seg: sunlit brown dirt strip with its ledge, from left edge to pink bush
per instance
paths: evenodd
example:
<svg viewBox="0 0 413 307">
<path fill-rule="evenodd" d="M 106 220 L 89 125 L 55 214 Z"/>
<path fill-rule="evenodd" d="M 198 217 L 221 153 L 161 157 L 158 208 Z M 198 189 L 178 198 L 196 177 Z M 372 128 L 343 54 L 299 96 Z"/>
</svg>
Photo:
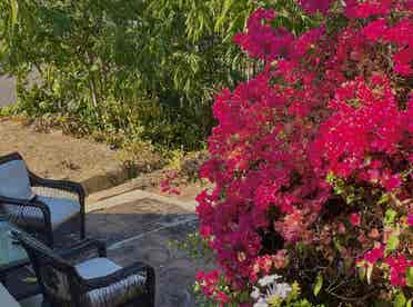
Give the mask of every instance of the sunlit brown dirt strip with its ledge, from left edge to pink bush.
<svg viewBox="0 0 413 307">
<path fill-rule="evenodd" d="M 77 139 L 59 130 L 38 132 L 16 120 L 0 118 L 0 156 L 13 151 L 20 152 L 36 174 L 81 182 L 89 194 L 113 187 L 118 188 L 110 194 L 134 189 L 161 194 L 159 184 L 164 178 L 162 170 L 129 180 L 117 151 L 104 143 Z M 204 188 L 200 182 L 183 182 L 178 187 L 180 195 L 162 195 L 189 201 L 194 200 Z"/>
</svg>

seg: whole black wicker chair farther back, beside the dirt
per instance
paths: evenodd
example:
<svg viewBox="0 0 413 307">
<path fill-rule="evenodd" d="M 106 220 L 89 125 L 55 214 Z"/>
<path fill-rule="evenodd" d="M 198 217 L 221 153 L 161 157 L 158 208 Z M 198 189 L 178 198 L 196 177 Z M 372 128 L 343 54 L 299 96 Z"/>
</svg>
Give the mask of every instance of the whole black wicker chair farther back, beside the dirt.
<svg viewBox="0 0 413 307">
<path fill-rule="evenodd" d="M 50 246 L 56 241 L 53 234 L 72 219 L 79 220 L 84 238 L 84 197 L 79 184 L 36 176 L 17 152 L 0 157 L 0 210 Z"/>
</svg>

